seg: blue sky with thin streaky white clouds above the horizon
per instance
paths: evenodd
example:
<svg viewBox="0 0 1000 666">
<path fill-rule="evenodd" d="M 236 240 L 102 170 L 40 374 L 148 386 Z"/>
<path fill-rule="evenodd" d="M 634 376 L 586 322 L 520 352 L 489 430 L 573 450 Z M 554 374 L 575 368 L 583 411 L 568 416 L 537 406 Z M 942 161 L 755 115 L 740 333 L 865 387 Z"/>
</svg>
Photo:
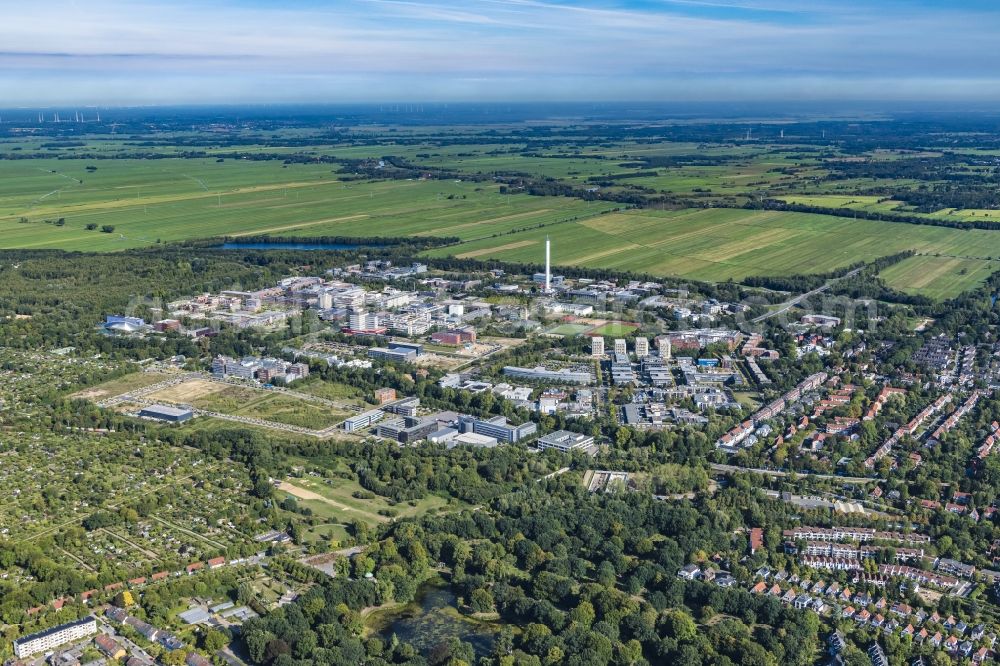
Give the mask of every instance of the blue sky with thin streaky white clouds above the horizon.
<svg viewBox="0 0 1000 666">
<path fill-rule="evenodd" d="M 8 107 L 1000 99 L 994 0 L 3 5 Z"/>
</svg>

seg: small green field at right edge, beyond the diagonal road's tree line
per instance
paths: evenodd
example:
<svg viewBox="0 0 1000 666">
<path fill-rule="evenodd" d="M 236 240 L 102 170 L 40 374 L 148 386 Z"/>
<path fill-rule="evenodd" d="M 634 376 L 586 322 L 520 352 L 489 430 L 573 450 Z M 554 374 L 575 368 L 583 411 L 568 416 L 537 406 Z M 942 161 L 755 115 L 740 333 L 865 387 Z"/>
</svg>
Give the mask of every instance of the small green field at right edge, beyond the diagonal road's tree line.
<svg viewBox="0 0 1000 666">
<path fill-rule="evenodd" d="M 944 299 L 974 289 L 1000 270 L 1000 261 L 922 255 L 889 266 L 880 273 L 894 289 Z"/>
</svg>

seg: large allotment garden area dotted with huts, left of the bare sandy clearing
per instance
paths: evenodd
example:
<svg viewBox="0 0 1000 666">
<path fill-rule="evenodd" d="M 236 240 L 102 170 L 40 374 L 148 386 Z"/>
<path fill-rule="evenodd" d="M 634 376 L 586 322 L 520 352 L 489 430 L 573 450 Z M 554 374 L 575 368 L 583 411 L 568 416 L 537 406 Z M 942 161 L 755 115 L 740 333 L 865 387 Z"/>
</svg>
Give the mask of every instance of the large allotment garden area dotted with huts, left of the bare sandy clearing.
<svg viewBox="0 0 1000 666">
<path fill-rule="evenodd" d="M 246 471 L 198 451 L 39 436 L 0 456 L 2 538 L 51 539 L 54 559 L 84 571 L 125 576 L 186 564 L 238 551 L 257 529 L 247 517 Z"/>
</svg>

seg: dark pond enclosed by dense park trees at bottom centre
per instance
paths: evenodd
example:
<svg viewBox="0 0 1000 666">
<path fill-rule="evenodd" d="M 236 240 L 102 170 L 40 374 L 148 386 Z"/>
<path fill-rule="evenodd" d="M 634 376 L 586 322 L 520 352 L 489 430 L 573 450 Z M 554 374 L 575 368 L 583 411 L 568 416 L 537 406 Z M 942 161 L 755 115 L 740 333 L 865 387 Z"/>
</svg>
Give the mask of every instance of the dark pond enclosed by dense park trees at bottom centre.
<svg viewBox="0 0 1000 666">
<path fill-rule="evenodd" d="M 463 617 L 455 602 L 455 595 L 447 587 L 425 584 L 412 603 L 383 618 L 379 635 L 388 640 L 395 634 L 423 655 L 452 638 L 471 643 L 477 657 L 489 655 L 493 650 L 495 626 Z"/>
</svg>

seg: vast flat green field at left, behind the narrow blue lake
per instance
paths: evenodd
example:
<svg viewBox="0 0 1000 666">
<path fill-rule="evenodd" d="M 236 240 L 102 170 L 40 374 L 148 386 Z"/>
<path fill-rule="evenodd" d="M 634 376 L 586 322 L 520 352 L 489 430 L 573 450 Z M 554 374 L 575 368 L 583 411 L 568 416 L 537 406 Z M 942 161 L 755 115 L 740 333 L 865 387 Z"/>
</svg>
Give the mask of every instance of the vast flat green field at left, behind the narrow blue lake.
<svg viewBox="0 0 1000 666">
<path fill-rule="evenodd" d="M 0 161 L 0 247 L 114 251 L 220 236 L 486 238 L 613 207 L 501 196 L 491 183 L 342 182 L 330 165 Z M 88 230 L 88 226 L 96 228 Z M 110 233 L 104 227 L 113 227 Z"/>
</svg>

